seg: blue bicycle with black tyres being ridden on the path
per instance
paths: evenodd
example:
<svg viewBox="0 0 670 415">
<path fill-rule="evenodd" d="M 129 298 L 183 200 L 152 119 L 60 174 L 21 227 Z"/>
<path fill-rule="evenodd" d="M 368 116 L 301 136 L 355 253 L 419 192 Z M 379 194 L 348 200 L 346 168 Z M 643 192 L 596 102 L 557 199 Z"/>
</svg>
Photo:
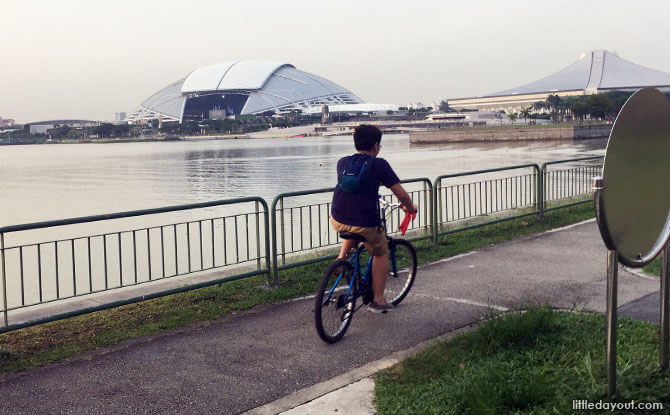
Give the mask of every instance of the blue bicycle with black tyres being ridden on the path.
<svg viewBox="0 0 670 415">
<path fill-rule="evenodd" d="M 409 241 L 391 238 L 386 232 L 386 217 L 400 203 L 389 203 L 380 197 L 380 216 L 389 247 L 389 272 L 384 296 L 391 304 L 398 305 L 407 296 L 416 278 L 416 251 Z M 388 213 L 387 213 L 387 210 Z M 348 259 L 339 258 L 328 268 L 321 280 L 316 295 L 314 320 L 319 337 L 326 343 L 340 340 L 349 328 L 351 319 L 358 309 L 372 301 L 372 255 L 361 273 L 362 256 L 367 250 L 365 238 L 349 232 L 340 232 L 342 239 L 358 241 Z M 357 300 L 362 303 L 356 308 Z"/>
</svg>

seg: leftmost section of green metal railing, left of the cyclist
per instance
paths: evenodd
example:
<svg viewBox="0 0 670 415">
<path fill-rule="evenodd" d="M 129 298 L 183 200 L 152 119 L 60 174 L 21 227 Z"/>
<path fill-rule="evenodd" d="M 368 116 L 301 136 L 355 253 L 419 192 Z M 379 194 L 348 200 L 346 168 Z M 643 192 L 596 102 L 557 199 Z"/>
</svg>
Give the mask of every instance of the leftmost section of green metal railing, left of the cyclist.
<svg viewBox="0 0 670 415">
<path fill-rule="evenodd" d="M 253 204 L 254 211 L 240 212 L 243 205 L 248 204 Z M 210 217 L 205 219 L 178 220 L 114 232 L 87 233 L 96 223 L 109 224 L 109 221 L 136 217 L 152 222 L 153 215 L 212 210 L 223 206 L 233 207 L 236 212 L 218 215 L 210 212 Z M 153 222 L 160 221 L 161 216 L 153 219 Z M 81 224 L 86 225 L 85 229 L 75 226 Z M 36 230 L 42 233 L 39 237 L 49 233 L 59 237 L 35 241 L 37 238 L 31 233 Z M 204 271 L 228 268 L 242 272 L 219 276 L 198 284 L 152 292 L 137 298 L 114 301 L 111 305 L 84 307 L 68 313 L 67 316 L 259 274 L 267 274 L 270 281 L 268 231 L 268 206 L 259 197 L 0 228 L 2 313 L 5 325 L 0 328 L 0 332 L 63 318 L 62 315 L 54 315 L 10 325 L 8 313 L 11 311 Z M 75 233 L 77 235 L 72 235 Z M 72 236 L 63 238 L 63 234 Z M 13 241 L 10 242 L 10 239 Z M 265 267 L 262 265 L 263 259 Z M 248 269 L 252 267 L 254 269 Z"/>
</svg>

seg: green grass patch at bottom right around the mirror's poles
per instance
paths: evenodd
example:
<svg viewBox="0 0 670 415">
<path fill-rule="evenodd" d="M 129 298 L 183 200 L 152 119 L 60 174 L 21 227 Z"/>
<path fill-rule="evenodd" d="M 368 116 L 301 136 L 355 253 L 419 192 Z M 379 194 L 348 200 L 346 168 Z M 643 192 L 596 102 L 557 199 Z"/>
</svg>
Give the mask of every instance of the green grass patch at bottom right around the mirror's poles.
<svg viewBox="0 0 670 415">
<path fill-rule="evenodd" d="M 619 320 L 614 401 L 670 408 L 657 330 Z M 569 414 L 573 399 L 607 400 L 604 368 L 603 316 L 533 308 L 493 318 L 379 372 L 375 403 L 379 414 Z"/>
</svg>

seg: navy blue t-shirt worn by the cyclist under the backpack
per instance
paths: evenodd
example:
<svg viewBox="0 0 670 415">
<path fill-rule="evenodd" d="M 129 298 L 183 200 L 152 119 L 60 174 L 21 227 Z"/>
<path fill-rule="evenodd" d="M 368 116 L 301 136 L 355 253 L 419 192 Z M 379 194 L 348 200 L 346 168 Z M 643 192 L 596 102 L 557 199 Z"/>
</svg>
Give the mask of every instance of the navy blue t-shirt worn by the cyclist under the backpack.
<svg viewBox="0 0 670 415">
<path fill-rule="evenodd" d="M 351 156 L 342 157 L 337 162 L 338 174 L 344 169 L 349 157 Z M 383 184 L 386 187 L 391 187 L 398 183 L 400 179 L 386 160 L 374 157 L 371 164 L 372 168 L 369 174 L 370 181 L 374 186 L 370 186 L 367 191 L 348 193 L 340 189 L 339 186 L 335 187 L 331 215 L 336 221 L 351 226 L 379 226 L 379 214 L 377 213 L 379 185 Z"/>
</svg>

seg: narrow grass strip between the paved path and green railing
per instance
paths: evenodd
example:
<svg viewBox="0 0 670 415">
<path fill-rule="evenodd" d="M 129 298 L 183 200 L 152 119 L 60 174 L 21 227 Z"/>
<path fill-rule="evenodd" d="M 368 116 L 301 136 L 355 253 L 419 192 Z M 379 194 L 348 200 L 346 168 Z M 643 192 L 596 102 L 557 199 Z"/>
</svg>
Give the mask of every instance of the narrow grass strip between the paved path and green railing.
<svg viewBox="0 0 670 415">
<path fill-rule="evenodd" d="M 425 263 L 592 216 L 593 206 L 587 203 L 549 212 L 543 220 L 529 216 L 457 232 L 440 238 L 437 247 L 429 241 L 414 246 L 419 263 Z M 0 374 L 309 294 L 329 265 L 324 261 L 281 271 L 279 286 L 272 290 L 265 287 L 265 277 L 258 276 L 1 334 Z"/>
</svg>

